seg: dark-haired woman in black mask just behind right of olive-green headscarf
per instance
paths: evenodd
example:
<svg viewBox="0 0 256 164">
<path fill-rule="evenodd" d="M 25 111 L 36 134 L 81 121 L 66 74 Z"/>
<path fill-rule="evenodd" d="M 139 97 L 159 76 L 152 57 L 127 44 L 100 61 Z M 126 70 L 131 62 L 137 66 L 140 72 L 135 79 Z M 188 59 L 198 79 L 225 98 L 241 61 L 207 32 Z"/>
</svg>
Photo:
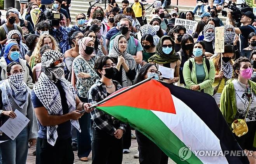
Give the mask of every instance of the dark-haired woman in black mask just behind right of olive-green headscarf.
<svg viewBox="0 0 256 164">
<path fill-rule="evenodd" d="M 172 32 L 170 32 L 170 36 L 174 38 L 175 52 L 181 50 L 181 38 L 184 36 L 184 34 L 186 34 L 186 28 L 181 25 L 175 26 L 174 29 L 172 29 Z"/>
</svg>

